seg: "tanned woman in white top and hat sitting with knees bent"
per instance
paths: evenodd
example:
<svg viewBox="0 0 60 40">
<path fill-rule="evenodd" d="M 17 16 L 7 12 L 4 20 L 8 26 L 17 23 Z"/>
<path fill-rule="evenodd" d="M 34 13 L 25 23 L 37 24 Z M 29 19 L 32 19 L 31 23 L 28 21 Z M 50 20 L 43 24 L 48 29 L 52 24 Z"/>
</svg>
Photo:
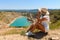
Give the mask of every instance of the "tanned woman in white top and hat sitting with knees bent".
<svg viewBox="0 0 60 40">
<path fill-rule="evenodd" d="M 37 21 L 35 21 L 30 28 L 28 29 L 26 35 L 34 35 L 32 32 L 35 29 L 39 29 L 44 33 L 48 33 L 49 30 L 49 12 L 46 8 L 41 8 L 38 9 L 38 13 L 37 13 Z"/>
</svg>

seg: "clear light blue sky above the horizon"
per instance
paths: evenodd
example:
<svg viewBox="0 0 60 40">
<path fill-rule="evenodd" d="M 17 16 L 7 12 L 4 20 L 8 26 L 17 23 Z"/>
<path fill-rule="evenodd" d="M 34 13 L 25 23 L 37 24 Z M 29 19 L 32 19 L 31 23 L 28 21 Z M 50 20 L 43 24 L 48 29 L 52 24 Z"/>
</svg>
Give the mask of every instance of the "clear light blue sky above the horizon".
<svg viewBox="0 0 60 40">
<path fill-rule="evenodd" d="M 60 0 L 0 0 L 0 9 L 60 9 Z"/>
</svg>

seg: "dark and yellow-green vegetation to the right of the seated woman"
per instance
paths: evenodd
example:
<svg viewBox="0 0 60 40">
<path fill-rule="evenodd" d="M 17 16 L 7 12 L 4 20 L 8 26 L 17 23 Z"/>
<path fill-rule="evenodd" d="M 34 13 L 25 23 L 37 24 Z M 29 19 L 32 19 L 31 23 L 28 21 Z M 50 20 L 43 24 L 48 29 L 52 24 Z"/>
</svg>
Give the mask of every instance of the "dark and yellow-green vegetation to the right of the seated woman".
<svg viewBox="0 0 60 40">
<path fill-rule="evenodd" d="M 60 28 L 60 10 L 54 9 L 50 10 L 50 29 L 58 29 Z"/>
</svg>

